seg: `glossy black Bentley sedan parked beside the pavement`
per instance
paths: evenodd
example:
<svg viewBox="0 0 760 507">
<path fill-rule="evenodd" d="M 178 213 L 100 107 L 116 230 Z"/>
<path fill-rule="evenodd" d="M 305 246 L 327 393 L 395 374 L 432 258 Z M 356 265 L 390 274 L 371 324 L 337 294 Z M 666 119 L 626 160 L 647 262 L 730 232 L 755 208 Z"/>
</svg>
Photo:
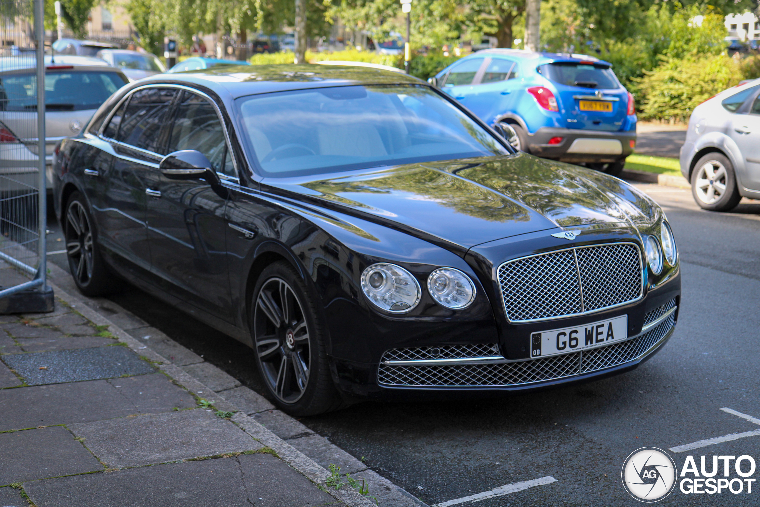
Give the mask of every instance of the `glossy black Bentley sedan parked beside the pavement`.
<svg viewBox="0 0 760 507">
<path fill-rule="evenodd" d="M 396 72 L 159 74 L 63 141 L 54 173 L 80 290 L 126 279 L 249 344 L 290 414 L 600 379 L 678 317 L 657 204 Z"/>
</svg>

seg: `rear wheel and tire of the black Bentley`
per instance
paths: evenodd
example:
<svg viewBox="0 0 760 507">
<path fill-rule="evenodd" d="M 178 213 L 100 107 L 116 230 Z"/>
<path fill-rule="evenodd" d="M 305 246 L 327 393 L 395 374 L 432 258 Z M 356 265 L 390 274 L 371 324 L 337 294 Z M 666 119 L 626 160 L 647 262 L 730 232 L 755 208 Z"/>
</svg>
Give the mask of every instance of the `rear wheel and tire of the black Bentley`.
<svg viewBox="0 0 760 507">
<path fill-rule="evenodd" d="M 80 292 L 85 296 L 103 296 L 121 289 L 122 280 L 109 271 L 100 254 L 94 220 L 82 195 L 72 193 L 64 209 L 61 220 L 68 268 Z"/>
</svg>

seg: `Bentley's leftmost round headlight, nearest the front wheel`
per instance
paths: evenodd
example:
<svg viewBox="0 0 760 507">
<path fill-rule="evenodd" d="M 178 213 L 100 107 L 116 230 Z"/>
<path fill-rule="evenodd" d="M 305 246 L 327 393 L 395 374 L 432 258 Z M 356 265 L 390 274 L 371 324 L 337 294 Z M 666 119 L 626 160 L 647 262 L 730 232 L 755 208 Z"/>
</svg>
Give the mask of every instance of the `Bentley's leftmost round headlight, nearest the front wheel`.
<svg viewBox="0 0 760 507">
<path fill-rule="evenodd" d="M 420 303 L 420 284 L 412 274 L 393 264 L 380 262 L 362 273 L 362 290 L 370 301 L 386 312 L 405 313 Z"/>
</svg>

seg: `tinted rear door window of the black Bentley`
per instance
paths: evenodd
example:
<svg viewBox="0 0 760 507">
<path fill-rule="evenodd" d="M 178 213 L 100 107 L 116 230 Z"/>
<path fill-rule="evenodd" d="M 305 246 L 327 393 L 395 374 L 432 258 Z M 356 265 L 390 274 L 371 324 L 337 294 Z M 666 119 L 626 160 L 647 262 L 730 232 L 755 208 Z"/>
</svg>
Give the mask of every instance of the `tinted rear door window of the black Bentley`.
<svg viewBox="0 0 760 507">
<path fill-rule="evenodd" d="M 116 140 L 165 155 L 160 147 L 161 127 L 175 92 L 171 88 L 145 88 L 132 93 Z"/>
</svg>

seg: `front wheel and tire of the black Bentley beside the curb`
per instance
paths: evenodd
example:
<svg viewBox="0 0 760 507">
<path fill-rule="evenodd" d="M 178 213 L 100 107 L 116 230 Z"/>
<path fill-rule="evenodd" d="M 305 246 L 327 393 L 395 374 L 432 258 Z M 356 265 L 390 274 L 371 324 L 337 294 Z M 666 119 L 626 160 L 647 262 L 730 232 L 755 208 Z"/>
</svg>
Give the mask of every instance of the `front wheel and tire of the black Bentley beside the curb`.
<svg viewBox="0 0 760 507">
<path fill-rule="evenodd" d="M 264 268 L 250 310 L 258 371 L 277 407 L 293 416 L 343 407 L 330 374 L 325 325 L 309 288 L 287 261 Z"/>
</svg>

